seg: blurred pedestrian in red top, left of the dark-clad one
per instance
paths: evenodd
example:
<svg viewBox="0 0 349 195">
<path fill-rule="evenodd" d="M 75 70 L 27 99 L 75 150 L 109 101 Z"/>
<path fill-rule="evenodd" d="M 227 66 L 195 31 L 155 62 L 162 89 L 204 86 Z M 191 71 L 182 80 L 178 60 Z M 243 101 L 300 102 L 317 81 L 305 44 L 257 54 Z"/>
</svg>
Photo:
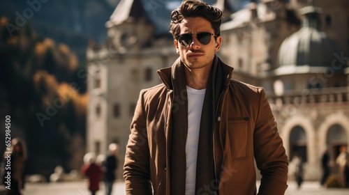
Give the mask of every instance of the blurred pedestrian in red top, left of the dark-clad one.
<svg viewBox="0 0 349 195">
<path fill-rule="evenodd" d="M 92 195 L 95 195 L 103 177 L 103 169 L 96 164 L 96 155 L 94 153 L 84 155 L 84 165 L 82 165 L 81 174 L 89 179 L 89 191 Z"/>
</svg>

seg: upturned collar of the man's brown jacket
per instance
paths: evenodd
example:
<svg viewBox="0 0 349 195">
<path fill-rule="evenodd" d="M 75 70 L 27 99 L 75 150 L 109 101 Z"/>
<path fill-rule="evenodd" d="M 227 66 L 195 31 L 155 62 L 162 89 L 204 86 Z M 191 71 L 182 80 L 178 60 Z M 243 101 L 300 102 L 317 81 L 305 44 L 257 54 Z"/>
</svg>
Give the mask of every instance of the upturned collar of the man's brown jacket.
<svg viewBox="0 0 349 195">
<path fill-rule="evenodd" d="M 223 84 L 223 86 L 228 86 L 230 79 L 232 79 L 232 71 L 234 70 L 234 68 L 223 63 L 221 61 L 221 59 L 218 58 L 217 55 L 214 56 L 213 63 L 214 63 L 214 65 L 212 65 L 212 69 L 214 72 L 217 72 L 216 70 L 217 70 L 218 66 L 221 67 L 220 68 L 222 70 L 221 71 L 222 72 L 221 79 L 223 79 L 222 84 Z M 173 90 L 172 80 L 176 77 L 175 72 L 174 72 L 174 68 L 176 66 L 179 66 L 180 64 L 181 64 L 181 59 L 178 58 L 176 61 L 174 61 L 173 65 L 171 67 L 161 68 L 157 71 L 163 84 L 165 84 L 166 88 L 168 88 L 170 90 Z M 216 78 L 218 78 L 220 75 L 215 75 L 215 76 L 216 76 Z"/>
</svg>

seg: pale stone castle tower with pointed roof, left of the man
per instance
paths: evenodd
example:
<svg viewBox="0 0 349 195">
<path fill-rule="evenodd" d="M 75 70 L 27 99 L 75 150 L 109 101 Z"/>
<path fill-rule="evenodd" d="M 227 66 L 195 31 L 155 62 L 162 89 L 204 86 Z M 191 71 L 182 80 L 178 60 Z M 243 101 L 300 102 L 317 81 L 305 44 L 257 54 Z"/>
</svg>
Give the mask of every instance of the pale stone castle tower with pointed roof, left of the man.
<svg viewBox="0 0 349 195">
<path fill-rule="evenodd" d="M 151 20 L 163 10 L 145 8 L 142 0 L 121 0 L 106 23 L 108 39 L 87 48 L 87 152 L 105 154 L 118 143 L 120 170 L 140 90 L 159 84 L 156 70 L 178 57 L 173 40 L 161 38 Z"/>
</svg>

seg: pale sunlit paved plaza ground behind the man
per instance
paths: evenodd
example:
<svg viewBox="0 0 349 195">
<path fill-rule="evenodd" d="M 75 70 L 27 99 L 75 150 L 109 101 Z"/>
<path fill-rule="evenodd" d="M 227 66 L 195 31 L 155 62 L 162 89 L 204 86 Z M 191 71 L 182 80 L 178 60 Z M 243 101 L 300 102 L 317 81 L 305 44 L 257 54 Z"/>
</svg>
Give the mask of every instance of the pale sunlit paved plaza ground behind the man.
<svg viewBox="0 0 349 195">
<path fill-rule="evenodd" d="M 1 194 L 1 193 L 0 193 Z M 58 183 L 28 183 L 23 195 L 89 195 L 87 181 L 80 182 L 58 182 Z M 104 195 L 104 187 L 96 195 Z M 113 195 L 124 195 L 124 182 L 114 183 Z M 295 182 L 288 183 L 286 195 L 348 195 L 349 189 L 326 189 L 320 187 L 318 182 L 304 182 L 300 189 L 297 189 Z M 272 195 L 272 194 L 271 194 Z"/>
</svg>

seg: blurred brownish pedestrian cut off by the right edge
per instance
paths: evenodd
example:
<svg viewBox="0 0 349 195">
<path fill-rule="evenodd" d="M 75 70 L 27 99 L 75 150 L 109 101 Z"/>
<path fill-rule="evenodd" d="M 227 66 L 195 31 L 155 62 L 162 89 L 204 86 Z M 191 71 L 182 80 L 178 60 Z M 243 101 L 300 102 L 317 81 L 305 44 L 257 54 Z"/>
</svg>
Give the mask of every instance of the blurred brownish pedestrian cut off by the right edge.
<svg viewBox="0 0 349 195">
<path fill-rule="evenodd" d="M 336 158 L 336 164 L 339 165 L 339 183 L 342 187 L 349 187 L 349 153 L 347 146 L 341 146 L 341 153 Z"/>
</svg>

